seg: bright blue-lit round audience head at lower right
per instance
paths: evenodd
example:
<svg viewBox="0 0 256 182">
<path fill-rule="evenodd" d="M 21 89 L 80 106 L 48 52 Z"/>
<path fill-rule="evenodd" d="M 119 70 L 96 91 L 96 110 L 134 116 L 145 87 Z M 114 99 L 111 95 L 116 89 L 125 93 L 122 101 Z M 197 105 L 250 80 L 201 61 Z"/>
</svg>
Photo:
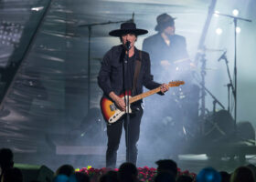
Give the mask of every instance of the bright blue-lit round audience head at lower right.
<svg viewBox="0 0 256 182">
<path fill-rule="evenodd" d="M 212 167 L 206 167 L 197 174 L 197 182 L 221 182 L 221 176 Z"/>
</svg>

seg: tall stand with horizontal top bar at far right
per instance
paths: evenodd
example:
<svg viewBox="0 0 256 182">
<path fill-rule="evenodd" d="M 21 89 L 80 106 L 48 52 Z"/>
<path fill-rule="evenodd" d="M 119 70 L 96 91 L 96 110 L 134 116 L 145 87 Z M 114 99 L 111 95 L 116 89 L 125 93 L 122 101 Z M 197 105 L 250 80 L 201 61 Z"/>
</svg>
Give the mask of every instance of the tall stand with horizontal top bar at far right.
<svg viewBox="0 0 256 182">
<path fill-rule="evenodd" d="M 234 21 L 234 79 L 235 79 L 235 88 L 234 88 L 234 100 L 235 100 L 235 112 L 234 112 L 234 126 L 235 126 L 235 130 L 236 130 L 236 123 L 237 123 L 237 104 L 238 104 L 238 97 L 237 97 L 237 25 L 238 25 L 238 20 L 242 20 L 242 21 L 246 21 L 246 22 L 251 22 L 250 19 L 245 19 L 242 17 L 238 17 L 238 16 L 233 16 L 233 15 L 226 15 L 226 14 L 219 14 L 219 13 L 215 13 L 217 15 L 222 15 L 222 16 L 227 16 L 229 18 L 232 18 Z"/>
</svg>

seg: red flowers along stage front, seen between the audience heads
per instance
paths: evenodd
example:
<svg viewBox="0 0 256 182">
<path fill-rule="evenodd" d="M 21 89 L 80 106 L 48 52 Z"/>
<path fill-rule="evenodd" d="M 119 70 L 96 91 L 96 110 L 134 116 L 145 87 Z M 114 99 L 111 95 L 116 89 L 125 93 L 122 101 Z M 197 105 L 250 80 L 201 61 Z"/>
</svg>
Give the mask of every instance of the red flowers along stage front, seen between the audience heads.
<svg viewBox="0 0 256 182">
<path fill-rule="evenodd" d="M 102 168 L 93 168 L 91 166 L 88 167 L 83 167 L 81 169 L 76 169 L 76 171 L 78 172 L 83 172 L 83 173 L 87 173 L 89 175 L 89 177 L 91 178 L 91 182 L 97 182 L 98 179 L 101 177 L 101 175 L 105 174 L 106 172 L 110 171 L 110 170 L 115 170 L 118 171 L 118 168 L 106 168 L 106 167 L 102 167 Z M 186 175 L 186 176 L 190 176 L 193 177 L 194 179 L 196 178 L 196 174 L 195 173 L 189 173 L 188 170 L 185 171 L 181 171 L 180 168 L 177 169 L 177 176 L 182 176 L 182 175 Z M 140 181 L 143 182 L 153 182 L 154 178 L 156 176 L 156 168 L 154 167 L 138 167 L 138 177 Z"/>
</svg>

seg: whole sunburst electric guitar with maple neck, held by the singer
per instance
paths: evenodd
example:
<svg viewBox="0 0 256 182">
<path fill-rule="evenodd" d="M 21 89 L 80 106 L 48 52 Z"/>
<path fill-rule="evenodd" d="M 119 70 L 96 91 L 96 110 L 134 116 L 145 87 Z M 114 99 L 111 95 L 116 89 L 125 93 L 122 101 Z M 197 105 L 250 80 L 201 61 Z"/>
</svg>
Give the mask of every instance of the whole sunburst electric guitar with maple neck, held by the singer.
<svg viewBox="0 0 256 182">
<path fill-rule="evenodd" d="M 173 87 L 173 86 L 180 86 L 180 85 L 184 85 L 184 84 L 185 84 L 184 81 L 173 81 L 173 82 L 169 82 L 168 86 Z M 125 94 L 120 95 L 120 97 L 122 97 L 123 99 L 126 98 L 126 100 L 127 100 L 128 96 L 129 96 L 129 103 L 131 105 L 133 102 L 143 99 L 146 96 L 151 96 L 157 92 L 160 92 L 160 90 L 161 90 L 161 86 L 159 86 L 155 89 L 149 90 L 147 92 L 144 92 L 143 94 L 140 94 L 137 96 L 130 96 L 130 93 L 126 92 Z M 130 105 L 129 106 L 126 105 L 125 111 L 122 111 L 117 106 L 115 106 L 115 103 L 112 102 L 111 99 L 102 97 L 101 98 L 101 113 L 108 124 L 113 124 L 118 119 L 120 119 L 125 113 L 132 113 L 132 109 L 131 109 Z"/>
</svg>

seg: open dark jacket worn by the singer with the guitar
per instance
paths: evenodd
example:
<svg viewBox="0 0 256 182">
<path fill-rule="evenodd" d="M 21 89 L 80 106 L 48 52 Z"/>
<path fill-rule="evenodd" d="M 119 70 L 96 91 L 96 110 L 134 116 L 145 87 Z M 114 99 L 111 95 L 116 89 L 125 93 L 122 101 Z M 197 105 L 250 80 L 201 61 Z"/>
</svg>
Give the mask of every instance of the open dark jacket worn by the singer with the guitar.
<svg viewBox="0 0 256 182">
<path fill-rule="evenodd" d="M 116 95 L 123 93 L 123 45 L 113 46 L 103 57 L 101 70 L 98 76 L 98 84 L 103 90 L 105 96 L 113 91 Z M 140 60 L 139 50 L 134 50 L 135 60 Z M 142 52 L 142 64 L 140 74 L 137 79 L 136 95 L 143 93 L 143 86 L 148 89 L 154 89 L 160 84 L 153 81 L 150 73 L 150 59 L 146 52 Z M 135 70 L 135 64 L 134 70 Z"/>
</svg>

